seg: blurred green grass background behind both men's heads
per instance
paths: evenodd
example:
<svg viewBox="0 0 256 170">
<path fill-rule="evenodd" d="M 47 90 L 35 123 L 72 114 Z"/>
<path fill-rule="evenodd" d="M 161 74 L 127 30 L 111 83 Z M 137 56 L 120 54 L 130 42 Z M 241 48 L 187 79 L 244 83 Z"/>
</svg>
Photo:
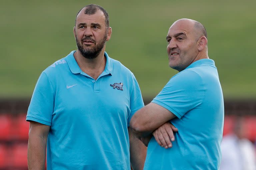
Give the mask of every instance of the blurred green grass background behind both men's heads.
<svg viewBox="0 0 256 170">
<path fill-rule="evenodd" d="M 110 57 L 136 76 L 143 97 L 153 97 L 177 71 L 168 67 L 165 37 L 180 18 L 201 22 L 225 98 L 256 98 L 256 1 L 2 1 L 0 97 L 31 97 L 40 73 L 76 49 L 77 11 L 90 3 L 109 13 Z"/>
</svg>

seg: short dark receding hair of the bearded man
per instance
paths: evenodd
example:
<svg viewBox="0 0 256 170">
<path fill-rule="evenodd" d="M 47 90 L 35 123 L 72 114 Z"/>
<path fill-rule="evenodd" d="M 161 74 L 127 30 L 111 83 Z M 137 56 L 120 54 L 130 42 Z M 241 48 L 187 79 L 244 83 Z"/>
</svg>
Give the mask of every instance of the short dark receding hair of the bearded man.
<svg viewBox="0 0 256 170">
<path fill-rule="evenodd" d="M 76 18 L 78 16 L 78 14 L 82 11 L 82 9 L 85 8 L 85 11 L 84 11 L 84 14 L 87 14 L 87 15 L 93 15 L 95 14 L 98 10 L 101 10 L 103 13 L 104 13 L 104 16 L 105 16 L 105 24 L 106 24 L 106 27 L 108 28 L 109 27 L 109 16 L 108 16 L 108 13 L 107 11 L 99 6 L 99 5 L 95 5 L 95 4 L 90 4 L 90 5 L 86 5 L 85 7 L 81 8 L 78 13 L 76 14 Z M 76 26 L 76 20 L 75 20 L 75 26 Z"/>
</svg>

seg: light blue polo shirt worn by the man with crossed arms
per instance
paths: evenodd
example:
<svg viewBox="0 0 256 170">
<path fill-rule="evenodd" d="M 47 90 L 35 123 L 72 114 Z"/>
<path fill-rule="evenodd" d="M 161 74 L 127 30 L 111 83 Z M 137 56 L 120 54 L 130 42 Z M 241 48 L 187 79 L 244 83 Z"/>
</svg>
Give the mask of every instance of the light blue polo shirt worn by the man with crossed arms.
<svg viewBox="0 0 256 170">
<path fill-rule="evenodd" d="M 149 142 L 144 170 L 217 170 L 223 132 L 224 104 L 217 68 L 201 59 L 173 76 L 153 99 L 177 118 L 172 148 Z"/>
</svg>

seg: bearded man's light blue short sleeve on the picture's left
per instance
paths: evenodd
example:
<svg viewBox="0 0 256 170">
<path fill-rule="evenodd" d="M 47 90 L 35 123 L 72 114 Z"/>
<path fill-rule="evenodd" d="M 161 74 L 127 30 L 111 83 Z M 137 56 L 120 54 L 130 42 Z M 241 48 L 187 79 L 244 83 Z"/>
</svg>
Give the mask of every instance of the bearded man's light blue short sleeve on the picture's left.
<svg viewBox="0 0 256 170">
<path fill-rule="evenodd" d="M 52 84 L 48 76 L 43 72 L 36 83 L 26 121 L 35 121 L 51 126 L 54 96 Z"/>
</svg>

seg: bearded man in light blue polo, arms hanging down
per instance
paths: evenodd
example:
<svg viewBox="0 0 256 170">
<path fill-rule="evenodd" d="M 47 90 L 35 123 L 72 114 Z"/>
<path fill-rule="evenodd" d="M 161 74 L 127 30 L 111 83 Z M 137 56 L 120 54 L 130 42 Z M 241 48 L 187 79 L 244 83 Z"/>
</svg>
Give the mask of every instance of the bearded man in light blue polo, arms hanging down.
<svg viewBox="0 0 256 170">
<path fill-rule="evenodd" d="M 77 51 L 40 75 L 27 113 L 29 169 L 143 169 L 146 147 L 129 128 L 143 101 L 133 73 L 108 56 L 108 13 L 82 8 L 73 30 Z"/>
</svg>

